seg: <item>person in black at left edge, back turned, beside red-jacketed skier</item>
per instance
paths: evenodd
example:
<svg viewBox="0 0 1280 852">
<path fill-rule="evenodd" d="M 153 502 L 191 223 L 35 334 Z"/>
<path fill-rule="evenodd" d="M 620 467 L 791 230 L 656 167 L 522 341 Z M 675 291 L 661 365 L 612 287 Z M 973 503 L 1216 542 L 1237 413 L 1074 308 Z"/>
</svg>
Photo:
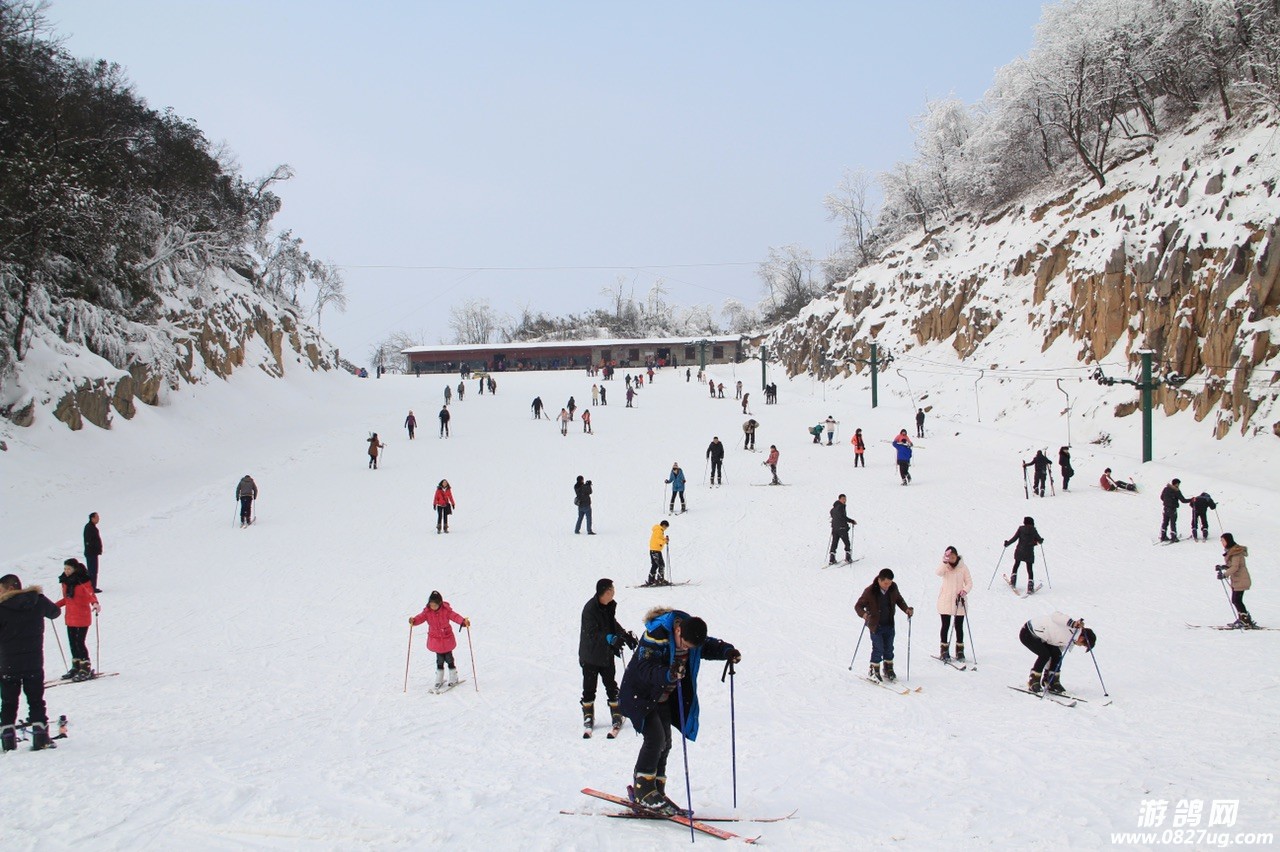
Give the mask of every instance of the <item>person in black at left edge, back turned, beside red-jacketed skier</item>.
<svg viewBox="0 0 1280 852">
<path fill-rule="evenodd" d="M 52 748 L 45 711 L 45 619 L 61 610 L 41 594 L 40 586 L 22 587 L 14 574 L 0 577 L 0 743 L 18 747 L 14 723 L 18 696 L 27 695 L 31 748 Z"/>
</svg>

